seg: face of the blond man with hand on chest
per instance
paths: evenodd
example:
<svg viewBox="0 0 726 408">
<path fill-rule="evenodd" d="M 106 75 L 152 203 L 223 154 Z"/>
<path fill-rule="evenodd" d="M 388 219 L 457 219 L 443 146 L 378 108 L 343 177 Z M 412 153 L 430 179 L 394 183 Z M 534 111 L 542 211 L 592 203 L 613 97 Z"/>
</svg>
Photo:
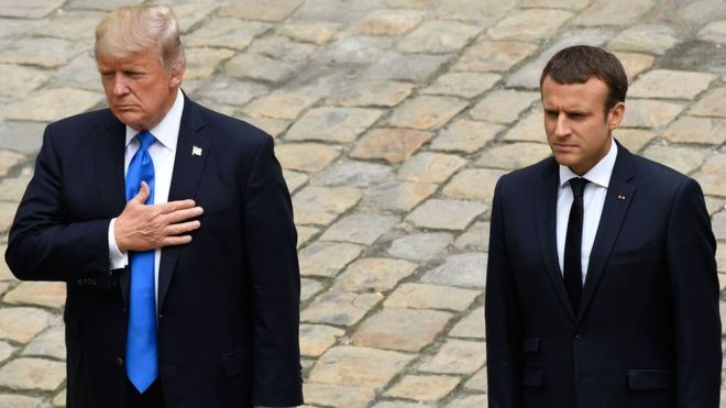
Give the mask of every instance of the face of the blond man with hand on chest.
<svg viewBox="0 0 726 408">
<path fill-rule="evenodd" d="M 121 122 L 150 130 L 172 109 L 183 67 L 167 71 L 151 49 L 123 58 L 99 56 L 97 63 L 111 112 Z"/>
</svg>

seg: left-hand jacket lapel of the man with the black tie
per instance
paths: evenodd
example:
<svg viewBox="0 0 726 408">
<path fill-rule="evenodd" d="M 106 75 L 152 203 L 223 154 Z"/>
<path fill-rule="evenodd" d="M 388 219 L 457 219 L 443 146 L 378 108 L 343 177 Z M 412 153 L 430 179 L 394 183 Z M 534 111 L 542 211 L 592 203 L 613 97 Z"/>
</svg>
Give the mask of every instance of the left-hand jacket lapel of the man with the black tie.
<svg viewBox="0 0 726 408">
<path fill-rule="evenodd" d="M 547 276 L 560 299 L 565 312 L 575 320 L 570 299 L 564 289 L 562 273 L 557 256 L 557 191 L 558 191 L 558 165 L 554 158 L 550 158 L 542 179 L 539 180 L 535 200 L 535 222 L 537 223 L 537 238 L 539 250 L 544 261 Z"/>
</svg>

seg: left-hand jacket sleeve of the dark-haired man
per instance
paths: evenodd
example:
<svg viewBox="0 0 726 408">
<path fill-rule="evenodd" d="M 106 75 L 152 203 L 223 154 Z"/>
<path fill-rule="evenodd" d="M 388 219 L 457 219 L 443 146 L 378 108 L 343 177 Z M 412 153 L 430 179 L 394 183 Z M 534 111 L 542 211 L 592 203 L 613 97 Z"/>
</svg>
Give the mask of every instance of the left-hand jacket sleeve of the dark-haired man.
<svg viewBox="0 0 726 408">
<path fill-rule="evenodd" d="M 520 406 L 521 344 L 520 315 L 517 289 L 509 268 L 502 184 L 499 178 L 494 191 L 490 227 L 490 250 L 486 268 L 486 356 L 490 408 L 517 408 Z"/>
</svg>

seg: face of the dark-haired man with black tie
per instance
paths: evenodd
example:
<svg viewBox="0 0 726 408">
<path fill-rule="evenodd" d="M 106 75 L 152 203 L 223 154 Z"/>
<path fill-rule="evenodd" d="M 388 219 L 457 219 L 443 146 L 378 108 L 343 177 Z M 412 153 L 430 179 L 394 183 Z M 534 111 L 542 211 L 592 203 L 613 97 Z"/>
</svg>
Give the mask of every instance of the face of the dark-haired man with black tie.
<svg viewBox="0 0 726 408">
<path fill-rule="evenodd" d="M 542 81 L 547 141 L 557 162 L 580 176 L 607 155 L 623 120 L 623 102 L 605 114 L 607 93 L 607 85 L 595 77 L 584 84 L 558 84 L 549 76 Z"/>
</svg>

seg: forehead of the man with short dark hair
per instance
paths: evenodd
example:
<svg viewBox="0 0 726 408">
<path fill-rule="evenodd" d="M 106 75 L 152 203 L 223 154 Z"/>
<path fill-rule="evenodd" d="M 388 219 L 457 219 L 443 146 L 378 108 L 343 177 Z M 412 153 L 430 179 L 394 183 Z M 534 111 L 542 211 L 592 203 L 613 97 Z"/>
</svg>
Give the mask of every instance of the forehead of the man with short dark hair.
<svg viewBox="0 0 726 408">
<path fill-rule="evenodd" d="M 603 106 L 609 92 L 607 85 L 597 77 L 582 84 L 560 84 L 549 76 L 542 81 L 542 103 Z"/>
</svg>

